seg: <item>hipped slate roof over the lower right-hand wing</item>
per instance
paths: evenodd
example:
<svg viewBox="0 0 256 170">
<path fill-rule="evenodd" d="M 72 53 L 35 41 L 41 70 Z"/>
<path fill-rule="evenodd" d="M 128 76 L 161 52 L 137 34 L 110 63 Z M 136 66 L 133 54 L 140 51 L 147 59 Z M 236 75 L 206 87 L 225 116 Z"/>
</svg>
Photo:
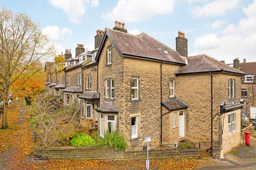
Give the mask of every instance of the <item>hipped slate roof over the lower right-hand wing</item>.
<svg viewBox="0 0 256 170">
<path fill-rule="evenodd" d="M 187 58 L 188 64 L 182 66 L 176 74 L 187 74 L 187 73 L 202 73 L 202 72 L 230 72 L 244 75 L 245 73 L 235 69 L 234 67 L 228 66 L 227 64 L 221 63 L 212 57 L 205 54 L 190 56 Z"/>
</svg>

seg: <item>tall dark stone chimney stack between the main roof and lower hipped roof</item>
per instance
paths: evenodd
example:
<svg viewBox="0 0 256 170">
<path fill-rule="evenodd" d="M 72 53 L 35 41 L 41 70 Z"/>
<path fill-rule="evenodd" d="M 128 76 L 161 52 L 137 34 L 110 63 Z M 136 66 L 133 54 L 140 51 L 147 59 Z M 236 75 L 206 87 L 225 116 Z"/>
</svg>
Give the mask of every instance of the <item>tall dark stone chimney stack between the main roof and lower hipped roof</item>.
<svg viewBox="0 0 256 170">
<path fill-rule="evenodd" d="M 179 31 L 176 37 L 176 51 L 184 57 L 188 56 L 188 39 L 185 38 L 185 33 Z"/>
</svg>

